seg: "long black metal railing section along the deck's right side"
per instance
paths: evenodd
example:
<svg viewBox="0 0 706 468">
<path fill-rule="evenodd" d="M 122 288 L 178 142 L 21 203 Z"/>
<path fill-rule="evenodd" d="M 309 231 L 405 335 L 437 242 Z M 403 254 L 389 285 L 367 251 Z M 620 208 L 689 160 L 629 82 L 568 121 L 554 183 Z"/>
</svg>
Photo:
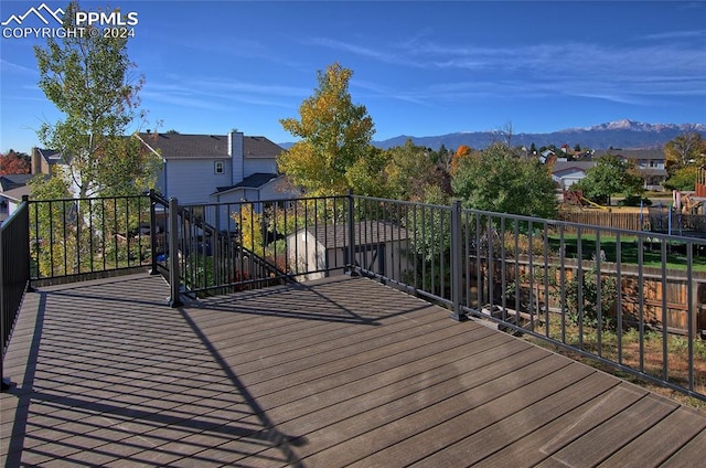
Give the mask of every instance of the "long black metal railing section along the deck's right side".
<svg viewBox="0 0 706 468">
<path fill-rule="evenodd" d="M 456 319 L 490 320 L 706 400 L 706 232 L 596 227 L 459 202 L 356 196 L 354 206 L 356 219 L 379 223 L 366 221 L 356 244 L 385 253 L 385 265 L 368 262 L 362 273 Z"/>
</svg>

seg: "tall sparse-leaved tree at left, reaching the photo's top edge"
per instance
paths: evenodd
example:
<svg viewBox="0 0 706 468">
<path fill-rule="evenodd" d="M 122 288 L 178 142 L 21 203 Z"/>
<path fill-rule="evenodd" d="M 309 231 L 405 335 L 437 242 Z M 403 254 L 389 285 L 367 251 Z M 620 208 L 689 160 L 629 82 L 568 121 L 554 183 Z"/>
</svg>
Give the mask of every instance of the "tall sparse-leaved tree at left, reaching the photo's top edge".
<svg viewBox="0 0 706 468">
<path fill-rule="evenodd" d="M 75 28 L 78 3 L 72 1 L 64 28 Z M 90 30 L 90 26 L 88 26 Z M 136 137 L 126 137 L 137 116 L 143 78 L 133 77 L 128 38 L 110 34 L 49 38 L 35 46 L 40 82 L 63 119 L 39 129 L 42 143 L 57 150 L 66 177 L 79 198 L 137 193 L 152 184 L 159 160 Z"/>
</svg>

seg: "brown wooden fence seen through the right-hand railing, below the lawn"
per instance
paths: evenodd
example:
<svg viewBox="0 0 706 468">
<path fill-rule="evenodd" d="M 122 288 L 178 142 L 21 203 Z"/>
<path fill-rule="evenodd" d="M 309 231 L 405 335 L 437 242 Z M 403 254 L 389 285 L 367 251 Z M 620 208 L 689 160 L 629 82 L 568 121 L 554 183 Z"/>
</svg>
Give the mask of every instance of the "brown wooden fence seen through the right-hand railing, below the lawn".
<svg viewBox="0 0 706 468">
<path fill-rule="evenodd" d="M 538 311 L 538 306 L 543 310 L 546 306 L 549 311 L 561 310 L 558 288 L 576 277 L 578 270 L 577 260 L 565 259 L 564 265 L 560 267 L 552 265 L 548 268 L 548 287 L 545 287 L 543 278 L 544 264 L 534 263 L 533 276 L 535 279 L 532 285 L 532 295 L 530 295 L 531 286 L 528 280 L 530 263 L 522 259 L 507 259 L 505 262 L 506 281 L 509 284 L 515 281 L 515 262 L 518 264 L 520 280 L 517 281 L 517 292 L 523 294 L 525 298 L 531 297 L 533 302 L 532 305 L 525 304 L 527 309 L 532 308 L 536 312 Z M 495 281 L 499 281 L 501 279 L 501 275 L 499 275 L 501 260 L 494 263 L 495 272 L 493 276 Z M 585 274 L 591 267 L 595 267 L 593 262 L 585 260 L 582 264 Z M 617 278 L 616 264 L 601 264 L 601 275 L 603 278 Z M 563 279 L 564 283 L 561 283 Z M 496 285 L 496 290 L 500 290 L 500 285 Z M 692 330 L 696 336 L 706 333 L 706 274 L 695 274 L 689 281 L 684 272 L 667 270 L 667 275 L 663 279 L 661 268 L 643 267 L 641 276 L 637 267 L 622 265 L 619 290 L 623 326 L 627 328 L 637 327 L 642 322 L 646 327 L 662 329 L 666 320 L 666 329 L 670 333 L 688 334 L 691 320 Z M 691 315 L 689 296 L 692 298 Z M 610 310 L 607 313 L 614 317 L 616 310 Z"/>
</svg>

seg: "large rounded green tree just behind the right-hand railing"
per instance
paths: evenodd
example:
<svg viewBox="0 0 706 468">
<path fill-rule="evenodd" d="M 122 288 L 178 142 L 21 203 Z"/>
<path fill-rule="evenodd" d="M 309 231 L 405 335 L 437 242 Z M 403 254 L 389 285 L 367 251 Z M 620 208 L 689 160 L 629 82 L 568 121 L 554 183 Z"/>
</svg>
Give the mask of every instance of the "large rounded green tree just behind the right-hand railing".
<svg viewBox="0 0 706 468">
<path fill-rule="evenodd" d="M 554 217 L 557 200 L 546 167 L 493 143 L 463 158 L 451 179 L 453 194 L 477 210 Z"/>
</svg>

